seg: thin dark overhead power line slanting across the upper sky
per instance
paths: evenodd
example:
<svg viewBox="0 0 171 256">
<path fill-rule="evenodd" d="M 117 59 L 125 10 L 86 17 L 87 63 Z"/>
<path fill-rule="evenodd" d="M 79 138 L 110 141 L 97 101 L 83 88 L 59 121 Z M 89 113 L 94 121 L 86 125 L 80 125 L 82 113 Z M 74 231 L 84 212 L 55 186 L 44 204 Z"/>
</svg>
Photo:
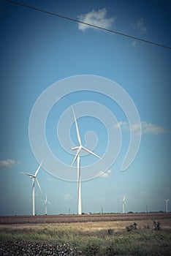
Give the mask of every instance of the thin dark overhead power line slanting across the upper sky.
<svg viewBox="0 0 171 256">
<path fill-rule="evenodd" d="M 96 25 L 93 25 L 93 24 L 90 24 L 90 23 L 86 23 L 86 22 L 83 22 L 83 21 L 80 21 L 80 20 L 75 20 L 75 19 L 70 18 L 70 17 L 66 17 L 66 16 L 63 16 L 63 15 L 58 15 L 57 13 L 54 13 L 54 12 L 48 12 L 46 10 L 42 10 L 42 9 L 39 9 L 39 8 L 36 8 L 36 7 L 31 7 L 31 6 L 26 5 L 26 4 L 20 4 L 20 3 L 16 2 L 16 1 L 10 1 L 10 0 L 5 0 L 5 1 L 8 1 L 11 4 L 17 4 L 17 5 L 20 5 L 22 7 L 29 8 L 31 10 L 37 10 L 39 12 L 44 12 L 44 13 L 47 13 L 49 15 L 56 16 L 58 18 L 63 18 L 63 19 L 66 19 L 66 20 L 71 20 L 71 21 L 74 21 L 74 22 L 77 22 L 77 23 L 81 23 L 81 24 L 84 24 L 84 25 L 87 25 L 87 26 L 91 26 L 91 27 L 96 28 L 96 29 L 101 29 L 101 30 L 108 31 L 108 32 L 111 32 L 111 33 L 114 33 L 114 34 L 119 34 L 119 35 L 121 35 L 123 37 L 129 37 L 129 38 L 132 38 L 132 39 L 135 39 L 135 40 L 139 40 L 139 41 L 142 41 L 142 42 L 147 42 L 148 44 L 151 44 L 151 45 L 157 45 L 157 46 L 160 46 L 160 47 L 163 47 L 163 48 L 171 49 L 171 47 L 169 47 L 167 45 L 161 45 L 161 44 L 159 44 L 157 42 L 148 41 L 148 40 L 142 39 L 140 37 L 132 37 L 129 34 L 123 34 L 121 32 L 114 31 L 114 30 L 111 30 L 111 29 L 105 29 L 102 26 L 96 26 Z"/>
</svg>

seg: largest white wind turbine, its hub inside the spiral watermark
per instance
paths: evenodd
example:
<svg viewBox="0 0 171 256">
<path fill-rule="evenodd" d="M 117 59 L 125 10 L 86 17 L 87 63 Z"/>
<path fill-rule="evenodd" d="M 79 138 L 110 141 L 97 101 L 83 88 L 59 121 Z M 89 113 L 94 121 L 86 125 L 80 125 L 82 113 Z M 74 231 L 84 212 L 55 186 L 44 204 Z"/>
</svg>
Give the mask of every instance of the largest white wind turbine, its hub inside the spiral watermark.
<svg viewBox="0 0 171 256">
<path fill-rule="evenodd" d="M 95 154 L 94 152 L 90 151 L 88 148 L 84 148 L 82 146 L 81 140 L 80 140 L 80 133 L 79 133 L 79 129 L 77 126 L 77 119 L 75 117 L 75 110 L 72 107 L 72 112 L 75 118 L 75 128 L 76 128 L 76 132 L 77 132 L 77 141 L 79 146 L 73 148 L 72 150 L 77 150 L 77 154 L 75 155 L 75 159 L 72 162 L 73 166 L 75 164 L 75 161 L 77 160 L 77 214 L 82 214 L 82 202 L 81 202 L 81 181 L 80 181 L 80 151 L 81 149 L 83 149 L 84 151 L 87 151 L 89 154 L 94 155 L 95 157 L 98 157 L 99 159 L 101 159 L 101 157 L 99 157 L 97 154 Z"/>
</svg>

